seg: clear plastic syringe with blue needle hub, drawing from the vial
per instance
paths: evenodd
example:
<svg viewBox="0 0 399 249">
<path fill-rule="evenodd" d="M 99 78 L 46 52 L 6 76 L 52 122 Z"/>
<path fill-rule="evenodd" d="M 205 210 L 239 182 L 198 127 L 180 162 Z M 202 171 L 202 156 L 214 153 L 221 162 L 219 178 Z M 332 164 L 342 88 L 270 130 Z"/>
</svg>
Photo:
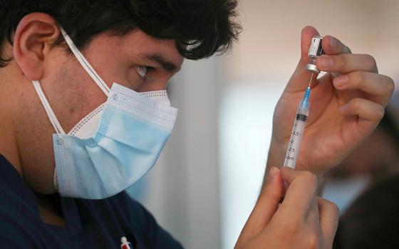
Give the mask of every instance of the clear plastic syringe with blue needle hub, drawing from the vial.
<svg viewBox="0 0 399 249">
<path fill-rule="evenodd" d="M 313 75 L 311 75 L 311 82 L 313 80 Z M 289 139 L 288 149 L 286 152 L 286 158 L 284 161 L 284 166 L 289 166 L 295 169 L 296 159 L 299 156 L 299 149 L 301 148 L 302 136 L 304 134 L 304 129 L 306 125 L 306 120 L 309 115 L 309 107 L 311 103 L 309 102 L 309 97 L 311 96 L 311 82 L 309 87 L 305 92 L 304 99 L 299 103 L 298 111 L 296 112 L 294 127 L 292 127 L 291 138 Z"/>
</svg>

